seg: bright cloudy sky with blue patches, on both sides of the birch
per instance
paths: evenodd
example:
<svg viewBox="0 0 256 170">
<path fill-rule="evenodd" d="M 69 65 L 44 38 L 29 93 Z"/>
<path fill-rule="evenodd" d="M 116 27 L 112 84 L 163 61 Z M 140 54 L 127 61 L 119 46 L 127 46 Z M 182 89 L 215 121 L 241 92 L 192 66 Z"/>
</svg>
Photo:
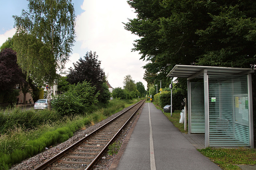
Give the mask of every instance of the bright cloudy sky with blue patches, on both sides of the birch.
<svg viewBox="0 0 256 170">
<path fill-rule="evenodd" d="M 15 33 L 13 15 L 28 10 L 27 0 L 0 0 L 0 45 Z M 127 18 L 136 18 L 126 0 L 72 0 L 76 11 L 76 43 L 66 68 L 83 57 L 87 51 L 96 51 L 101 68 L 113 88 L 122 87 L 128 74 L 135 82 L 142 82 L 146 62 L 139 60 L 138 52 L 131 52 L 138 39 L 124 29 Z"/>
</svg>

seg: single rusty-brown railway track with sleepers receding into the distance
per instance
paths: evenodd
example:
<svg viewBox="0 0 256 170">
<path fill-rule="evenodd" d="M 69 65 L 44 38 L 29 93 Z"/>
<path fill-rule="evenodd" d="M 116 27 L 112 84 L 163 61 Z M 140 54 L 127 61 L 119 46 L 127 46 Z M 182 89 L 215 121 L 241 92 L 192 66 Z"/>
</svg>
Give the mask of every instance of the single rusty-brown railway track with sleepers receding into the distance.
<svg viewBox="0 0 256 170">
<path fill-rule="evenodd" d="M 124 111 L 34 170 L 91 170 L 145 100 Z"/>
</svg>

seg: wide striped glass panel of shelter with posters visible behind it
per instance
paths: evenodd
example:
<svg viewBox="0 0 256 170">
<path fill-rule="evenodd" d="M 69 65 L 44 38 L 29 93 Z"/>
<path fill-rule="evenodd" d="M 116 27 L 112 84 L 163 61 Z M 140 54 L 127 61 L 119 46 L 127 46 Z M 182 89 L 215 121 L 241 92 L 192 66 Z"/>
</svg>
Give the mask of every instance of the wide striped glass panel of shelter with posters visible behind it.
<svg viewBox="0 0 256 170">
<path fill-rule="evenodd" d="M 249 146 L 247 76 L 209 76 L 210 147 Z"/>
</svg>

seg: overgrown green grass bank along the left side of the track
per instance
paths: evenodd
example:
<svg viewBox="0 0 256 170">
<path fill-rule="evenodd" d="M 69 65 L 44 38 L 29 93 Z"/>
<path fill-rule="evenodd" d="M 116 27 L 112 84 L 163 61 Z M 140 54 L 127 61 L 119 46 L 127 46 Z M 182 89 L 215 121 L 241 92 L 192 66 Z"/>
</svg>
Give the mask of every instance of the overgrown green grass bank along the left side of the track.
<svg viewBox="0 0 256 170">
<path fill-rule="evenodd" d="M 77 130 L 94 125 L 139 100 L 114 99 L 105 105 L 91 106 L 89 112 L 65 116 L 55 110 L 1 110 L 0 169 L 9 169 L 46 147 L 62 143 Z"/>
</svg>

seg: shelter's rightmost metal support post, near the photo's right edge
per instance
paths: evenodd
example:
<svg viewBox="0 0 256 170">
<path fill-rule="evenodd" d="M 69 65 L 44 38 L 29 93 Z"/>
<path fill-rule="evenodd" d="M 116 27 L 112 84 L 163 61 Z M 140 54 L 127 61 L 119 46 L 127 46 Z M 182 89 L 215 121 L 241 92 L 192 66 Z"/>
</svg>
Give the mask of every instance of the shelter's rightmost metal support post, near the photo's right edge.
<svg viewBox="0 0 256 170">
<path fill-rule="evenodd" d="M 252 111 L 252 74 L 248 74 L 248 114 L 249 114 L 249 135 L 250 135 L 250 147 L 254 148 L 253 137 L 253 111 Z"/>
</svg>

